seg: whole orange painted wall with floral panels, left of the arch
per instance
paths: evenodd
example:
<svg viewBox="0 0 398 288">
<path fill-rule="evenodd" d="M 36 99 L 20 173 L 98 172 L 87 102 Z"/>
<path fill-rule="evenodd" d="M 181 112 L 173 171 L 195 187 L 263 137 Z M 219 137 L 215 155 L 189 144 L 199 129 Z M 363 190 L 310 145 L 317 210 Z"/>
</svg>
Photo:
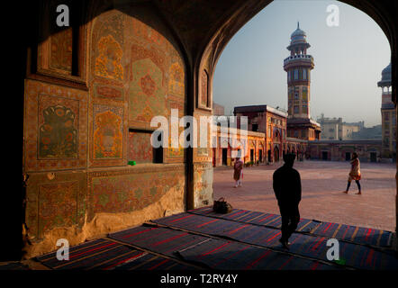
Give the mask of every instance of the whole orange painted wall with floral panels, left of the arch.
<svg viewBox="0 0 398 288">
<path fill-rule="evenodd" d="M 51 78 L 25 81 L 25 257 L 185 211 L 184 149 L 151 163 L 149 134 L 134 132 L 185 114 L 185 63 L 165 27 L 145 9 L 99 14 L 80 30 L 78 75 L 70 29 L 39 44 L 37 74 Z M 213 182 L 202 170 L 198 201 Z"/>
</svg>

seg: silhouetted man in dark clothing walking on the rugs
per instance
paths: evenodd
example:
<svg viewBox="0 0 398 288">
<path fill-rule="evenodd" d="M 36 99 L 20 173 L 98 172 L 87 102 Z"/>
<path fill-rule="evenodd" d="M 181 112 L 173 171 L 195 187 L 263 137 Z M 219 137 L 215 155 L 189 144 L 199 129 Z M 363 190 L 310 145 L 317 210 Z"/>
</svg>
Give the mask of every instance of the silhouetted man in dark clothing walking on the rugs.
<svg viewBox="0 0 398 288">
<path fill-rule="evenodd" d="M 285 248 L 289 247 L 288 239 L 300 221 L 299 202 L 302 199 L 300 174 L 293 168 L 295 154 L 285 154 L 285 165 L 276 169 L 273 175 L 273 186 L 279 211 L 282 216 L 282 237 L 279 241 Z"/>
</svg>

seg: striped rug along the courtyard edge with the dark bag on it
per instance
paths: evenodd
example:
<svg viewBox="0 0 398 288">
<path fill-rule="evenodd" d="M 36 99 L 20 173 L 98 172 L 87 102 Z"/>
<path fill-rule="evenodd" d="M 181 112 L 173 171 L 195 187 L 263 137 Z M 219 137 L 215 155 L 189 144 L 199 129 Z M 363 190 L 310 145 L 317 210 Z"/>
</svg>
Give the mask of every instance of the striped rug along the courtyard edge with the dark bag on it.
<svg viewBox="0 0 398 288">
<path fill-rule="evenodd" d="M 221 218 L 221 219 L 234 220 L 243 223 L 267 226 L 276 229 L 280 229 L 282 226 L 282 219 L 280 215 L 270 214 L 267 212 L 233 209 L 230 213 L 221 214 L 214 212 L 213 207 L 211 206 L 194 209 L 187 212 L 207 217 Z M 309 220 L 302 218 L 299 224 L 297 225 L 296 230 L 300 232 L 310 232 L 320 223 L 321 222 L 317 220 Z"/>
</svg>

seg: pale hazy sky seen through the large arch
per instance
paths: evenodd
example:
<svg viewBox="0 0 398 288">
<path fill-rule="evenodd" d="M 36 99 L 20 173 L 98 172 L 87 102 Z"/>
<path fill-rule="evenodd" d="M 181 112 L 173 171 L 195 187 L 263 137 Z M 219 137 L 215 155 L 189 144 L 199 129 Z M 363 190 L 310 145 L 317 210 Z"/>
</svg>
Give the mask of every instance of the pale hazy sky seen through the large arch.
<svg viewBox="0 0 398 288">
<path fill-rule="evenodd" d="M 339 6 L 339 26 L 329 27 L 329 4 Z M 314 58 L 311 116 L 381 124 L 377 81 L 390 63 L 384 31 L 367 14 L 338 1 L 276 0 L 246 23 L 222 52 L 213 79 L 213 100 L 225 106 L 267 104 L 287 109 L 283 62 L 300 22 Z"/>
</svg>

